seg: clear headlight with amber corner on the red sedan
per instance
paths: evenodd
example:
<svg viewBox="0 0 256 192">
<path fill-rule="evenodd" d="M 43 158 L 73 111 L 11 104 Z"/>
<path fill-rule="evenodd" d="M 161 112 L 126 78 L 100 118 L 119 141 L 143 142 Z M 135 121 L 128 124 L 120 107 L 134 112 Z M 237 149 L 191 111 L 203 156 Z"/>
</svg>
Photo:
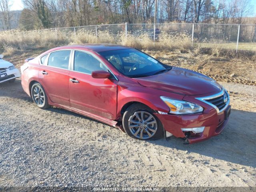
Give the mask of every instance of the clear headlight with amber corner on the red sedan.
<svg viewBox="0 0 256 192">
<path fill-rule="evenodd" d="M 169 113 L 172 114 L 191 114 L 202 112 L 204 110 L 204 108 L 202 108 L 201 106 L 187 101 L 173 100 L 164 96 L 161 96 L 160 98 L 170 108 Z"/>
</svg>

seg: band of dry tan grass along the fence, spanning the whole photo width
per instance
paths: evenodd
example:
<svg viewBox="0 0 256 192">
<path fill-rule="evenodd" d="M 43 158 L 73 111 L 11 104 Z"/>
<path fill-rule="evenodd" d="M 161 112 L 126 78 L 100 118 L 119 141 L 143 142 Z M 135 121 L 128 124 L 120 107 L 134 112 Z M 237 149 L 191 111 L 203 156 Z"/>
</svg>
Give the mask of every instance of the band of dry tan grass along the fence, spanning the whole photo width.
<svg viewBox="0 0 256 192">
<path fill-rule="evenodd" d="M 113 36 L 108 31 L 99 31 L 98 36 L 93 31 L 80 30 L 74 34 L 74 31 L 30 31 L 22 32 L 19 30 L 1 32 L 0 33 L 0 52 L 5 55 L 11 55 L 22 50 L 31 50 L 36 48 L 52 48 L 68 44 L 84 44 L 84 43 L 112 43 L 122 44 L 137 48 L 140 50 L 168 50 L 180 53 L 190 53 L 193 55 L 207 54 L 214 56 L 246 56 L 255 55 L 255 53 L 240 52 L 233 54 L 234 51 L 225 51 L 222 44 L 211 44 L 210 48 L 206 44 L 194 44 L 192 47 L 191 37 L 186 33 L 166 33 L 162 32 L 158 40 L 154 43 L 152 38 L 147 34 L 140 36 L 132 36 L 132 34 L 118 34 Z M 233 45 L 231 46 L 233 47 Z M 231 48 L 230 47 L 230 48 Z M 253 45 L 252 45 L 253 47 Z M 253 50 L 253 49 L 252 49 Z"/>
</svg>

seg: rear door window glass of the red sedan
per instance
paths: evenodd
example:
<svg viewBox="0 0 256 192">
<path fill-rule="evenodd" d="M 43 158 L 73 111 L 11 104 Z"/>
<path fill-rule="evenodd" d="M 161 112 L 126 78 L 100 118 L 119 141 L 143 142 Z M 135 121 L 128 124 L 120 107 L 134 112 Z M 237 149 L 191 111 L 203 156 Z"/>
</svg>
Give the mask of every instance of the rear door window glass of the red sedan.
<svg viewBox="0 0 256 192">
<path fill-rule="evenodd" d="M 48 66 L 68 69 L 70 50 L 52 52 L 48 59 Z"/>
</svg>

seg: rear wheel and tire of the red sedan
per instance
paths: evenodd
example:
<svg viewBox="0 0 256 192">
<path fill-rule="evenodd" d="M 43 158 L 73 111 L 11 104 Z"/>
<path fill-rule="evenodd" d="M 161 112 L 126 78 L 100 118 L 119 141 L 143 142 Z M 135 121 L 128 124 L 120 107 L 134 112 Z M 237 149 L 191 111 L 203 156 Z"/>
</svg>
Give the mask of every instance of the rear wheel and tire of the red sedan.
<svg viewBox="0 0 256 192">
<path fill-rule="evenodd" d="M 49 108 L 46 92 L 40 83 L 34 83 L 31 87 L 31 96 L 35 104 L 41 108 Z"/>
</svg>

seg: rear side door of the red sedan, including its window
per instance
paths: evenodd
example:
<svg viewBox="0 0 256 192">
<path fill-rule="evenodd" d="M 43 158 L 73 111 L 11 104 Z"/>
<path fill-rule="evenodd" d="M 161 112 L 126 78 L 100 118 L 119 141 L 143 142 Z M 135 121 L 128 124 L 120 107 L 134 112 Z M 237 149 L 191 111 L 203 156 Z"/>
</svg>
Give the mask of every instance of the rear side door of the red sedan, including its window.
<svg viewBox="0 0 256 192">
<path fill-rule="evenodd" d="M 49 99 L 57 104 L 70 106 L 69 73 L 71 50 L 57 50 L 41 57 L 38 77 Z"/>
</svg>

